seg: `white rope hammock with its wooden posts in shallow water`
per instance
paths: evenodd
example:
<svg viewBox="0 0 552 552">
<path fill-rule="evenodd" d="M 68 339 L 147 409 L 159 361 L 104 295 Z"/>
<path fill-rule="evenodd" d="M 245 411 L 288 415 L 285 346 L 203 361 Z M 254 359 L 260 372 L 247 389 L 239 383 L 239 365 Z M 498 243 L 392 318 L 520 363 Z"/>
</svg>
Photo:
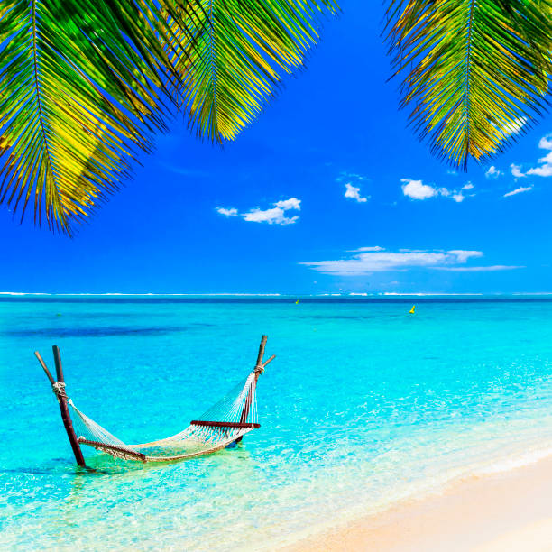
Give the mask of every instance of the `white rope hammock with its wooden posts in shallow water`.
<svg viewBox="0 0 552 552">
<path fill-rule="evenodd" d="M 60 350 L 56 345 L 53 349 L 58 381 L 54 381 L 51 377 L 41 355 L 38 352 L 35 354 L 49 377 L 52 390 L 60 403 L 61 418 L 79 465 L 85 465 L 80 445 L 91 446 L 100 452 L 124 460 L 140 460 L 144 463 L 170 462 L 214 453 L 241 441 L 246 433 L 261 427 L 257 416 L 255 392 L 257 380 L 264 371 L 264 367 L 275 358 L 272 355 L 268 361 L 262 363 L 266 339 L 266 336 L 262 336 L 257 363 L 245 382 L 239 383 L 198 419 L 192 420 L 188 428 L 183 431 L 172 437 L 139 445 L 125 444 L 93 419 L 88 418 L 75 406 L 73 400 L 68 398 L 61 371 Z"/>
</svg>

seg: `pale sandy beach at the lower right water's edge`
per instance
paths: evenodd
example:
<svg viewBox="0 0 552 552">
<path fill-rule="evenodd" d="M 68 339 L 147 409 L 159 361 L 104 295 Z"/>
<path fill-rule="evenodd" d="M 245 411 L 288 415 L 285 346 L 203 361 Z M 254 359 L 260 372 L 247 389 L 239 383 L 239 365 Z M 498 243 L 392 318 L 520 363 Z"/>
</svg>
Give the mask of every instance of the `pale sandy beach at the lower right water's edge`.
<svg viewBox="0 0 552 552">
<path fill-rule="evenodd" d="M 291 551 L 552 550 L 552 457 L 470 477 L 425 500 L 327 529 Z"/>
</svg>

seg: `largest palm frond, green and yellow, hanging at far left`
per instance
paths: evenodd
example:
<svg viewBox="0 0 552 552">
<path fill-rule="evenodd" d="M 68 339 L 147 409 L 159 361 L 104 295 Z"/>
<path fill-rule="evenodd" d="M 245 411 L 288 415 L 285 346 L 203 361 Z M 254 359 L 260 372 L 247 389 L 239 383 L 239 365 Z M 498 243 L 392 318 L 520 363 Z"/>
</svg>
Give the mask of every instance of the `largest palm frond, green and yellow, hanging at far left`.
<svg viewBox="0 0 552 552">
<path fill-rule="evenodd" d="M 163 128 L 168 54 L 149 0 L 5 0 L 0 201 L 71 232 Z M 162 23 L 162 20 L 161 20 Z"/>
</svg>

